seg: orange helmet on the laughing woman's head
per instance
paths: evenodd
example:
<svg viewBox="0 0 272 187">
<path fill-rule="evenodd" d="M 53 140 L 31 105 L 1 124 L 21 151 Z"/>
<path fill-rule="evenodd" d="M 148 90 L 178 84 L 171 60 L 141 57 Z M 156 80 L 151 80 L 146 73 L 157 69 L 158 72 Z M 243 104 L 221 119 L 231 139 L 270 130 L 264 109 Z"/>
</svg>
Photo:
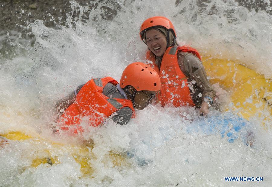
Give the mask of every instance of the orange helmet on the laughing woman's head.
<svg viewBox="0 0 272 187">
<path fill-rule="evenodd" d="M 158 27 L 158 26 L 165 27 L 167 30 L 172 31 L 174 37 L 176 37 L 176 31 L 172 22 L 165 17 L 155 16 L 155 17 L 148 18 L 141 25 L 141 30 L 140 30 L 141 39 L 143 39 L 145 31 L 147 31 L 148 29 L 151 29 L 152 27 Z"/>
</svg>

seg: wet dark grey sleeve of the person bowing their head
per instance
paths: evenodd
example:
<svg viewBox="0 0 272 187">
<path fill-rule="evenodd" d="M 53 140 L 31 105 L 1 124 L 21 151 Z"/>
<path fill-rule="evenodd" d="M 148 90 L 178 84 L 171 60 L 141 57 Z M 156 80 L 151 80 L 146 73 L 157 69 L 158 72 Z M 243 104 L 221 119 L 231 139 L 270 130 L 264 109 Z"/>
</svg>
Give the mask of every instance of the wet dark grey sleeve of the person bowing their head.
<svg viewBox="0 0 272 187">
<path fill-rule="evenodd" d="M 115 112 L 112 116 L 112 121 L 118 125 L 125 125 L 132 117 L 132 110 L 129 107 L 124 107 Z"/>
</svg>

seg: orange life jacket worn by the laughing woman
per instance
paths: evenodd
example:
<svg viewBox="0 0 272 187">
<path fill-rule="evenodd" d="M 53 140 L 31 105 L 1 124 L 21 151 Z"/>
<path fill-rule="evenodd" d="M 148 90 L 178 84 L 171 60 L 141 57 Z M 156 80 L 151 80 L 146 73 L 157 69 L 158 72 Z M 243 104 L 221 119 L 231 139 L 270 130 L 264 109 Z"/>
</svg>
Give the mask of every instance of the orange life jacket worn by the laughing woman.
<svg viewBox="0 0 272 187">
<path fill-rule="evenodd" d="M 176 107 L 179 107 L 180 105 L 195 106 L 188 87 L 187 77 L 180 70 L 178 64 L 178 51 L 193 53 L 201 60 L 198 51 L 192 47 L 168 47 L 164 53 L 159 69 L 155 64 L 155 55 L 150 50 L 146 53 L 147 60 L 153 62 L 154 69 L 160 75 L 161 88 L 157 97 L 162 106 L 168 104 L 172 104 Z"/>
</svg>

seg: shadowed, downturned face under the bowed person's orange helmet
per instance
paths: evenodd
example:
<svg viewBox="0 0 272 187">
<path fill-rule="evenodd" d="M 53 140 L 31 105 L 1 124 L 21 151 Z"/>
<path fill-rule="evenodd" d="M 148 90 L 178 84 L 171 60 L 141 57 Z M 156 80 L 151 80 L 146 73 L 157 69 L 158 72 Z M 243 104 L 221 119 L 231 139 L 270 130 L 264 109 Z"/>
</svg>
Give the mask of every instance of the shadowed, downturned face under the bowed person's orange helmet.
<svg viewBox="0 0 272 187">
<path fill-rule="evenodd" d="M 155 95 L 156 95 L 156 92 L 147 91 L 147 90 L 136 92 L 134 97 L 134 103 L 133 103 L 134 108 L 138 110 L 143 110 L 152 101 Z"/>
</svg>

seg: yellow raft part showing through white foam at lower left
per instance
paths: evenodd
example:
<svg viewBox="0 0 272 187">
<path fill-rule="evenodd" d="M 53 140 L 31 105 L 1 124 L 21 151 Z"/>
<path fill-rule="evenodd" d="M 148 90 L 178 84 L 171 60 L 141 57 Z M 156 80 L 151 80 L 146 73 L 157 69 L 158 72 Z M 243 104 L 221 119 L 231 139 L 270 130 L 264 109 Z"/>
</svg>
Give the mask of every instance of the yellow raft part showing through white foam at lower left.
<svg viewBox="0 0 272 187">
<path fill-rule="evenodd" d="M 34 148 L 34 153 L 31 152 L 30 155 L 28 155 L 28 157 L 32 159 L 32 163 L 29 167 L 37 167 L 40 164 L 60 164 L 59 157 L 65 155 L 73 157 L 76 163 L 80 164 L 80 170 L 83 176 L 92 176 L 94 172 L 92 161 L 97 160 L 97 158 L 92 153 L 92 146 L 55 143 L 37 136 L 27 135 L 20 131 L 11 131 L 7 134 L 1 134 L 1 136 L 8 139 L 7 142 L 1 142 L 2 144 L 9 144 L 11 143 L 10 140 L 17 142 L 31 141 L 33 147 L 39 147 Z M 2 148 L 4 146 L 5 145 L 2 145 Z M 111 151 L 102 156 L 101 162 L 109 167 L 115 168 L 128 167 L 131 165 L 124 153 L 113 153 Z M 25 169 L 28 169 L 28 167 L 25 167 Z"/>
</svg>

